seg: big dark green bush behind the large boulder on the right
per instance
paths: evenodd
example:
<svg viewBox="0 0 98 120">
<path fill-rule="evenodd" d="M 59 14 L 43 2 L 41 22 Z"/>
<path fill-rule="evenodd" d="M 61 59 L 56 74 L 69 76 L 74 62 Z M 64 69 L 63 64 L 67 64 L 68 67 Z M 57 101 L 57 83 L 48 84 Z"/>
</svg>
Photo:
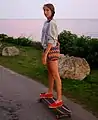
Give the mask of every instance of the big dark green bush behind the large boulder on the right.
<svg viewBox="0 0 98 120">
<path fill-rule="evenodd" d="M 91 67 L 98 67 L 98 39 L 77 36 L 64 30 L 58 36 L 61 53 L 85 58 Z"/>
</svg>

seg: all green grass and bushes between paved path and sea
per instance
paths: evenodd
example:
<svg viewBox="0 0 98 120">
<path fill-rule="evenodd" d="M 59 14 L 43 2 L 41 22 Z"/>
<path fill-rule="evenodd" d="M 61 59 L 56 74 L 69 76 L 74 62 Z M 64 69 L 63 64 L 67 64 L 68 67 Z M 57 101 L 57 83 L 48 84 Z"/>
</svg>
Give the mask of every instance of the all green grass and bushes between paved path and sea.
<svg viewBox="0 0 98 120">
<path fill-rule="evenodd" d="M 34 80 L 37 80 L 38 82 L 41 82 L 47 86 L 47 69 L 46 66 L 43 66 L 41 63 L 42 51 L 40 43 L 32 42 L 25 38 L 22 38 L 21 40 L 18 38 L 19 41 L 14 38 L 10 40 L 10 38 L 6 35 L 5 40 L 5 36 L 2 36 L 0 38 L 1 43 L 4 46 L 15 45 L 19 48 L 20 55 L 14 57 L 0 56 L 0 64 L 20 74 L 33 78 Z M 59 41 L 61 44 L 61 52 L 63 54 L 85 57 L 90 65 L 96 65 L 98 59 L 98 51 L 96 47 L 96 44 L 98 44 L 97 39 L 94 39 L 93 41 L 93 39 L 89 37 L 77 37 L 77 35 L 63 31 L 59 35 Z M 93 57 L 91 57 L 91 55 Z M 95 69 L 92 67 L 91 74 L 83 81 L 62 79 L 62 83 L 63 93 L 65 96 L 69 97 L 75 102 L 82 104 L 88 110 L 93 111 L 96 116 L 98 115 L 98 68 Z"/>
</svg>

